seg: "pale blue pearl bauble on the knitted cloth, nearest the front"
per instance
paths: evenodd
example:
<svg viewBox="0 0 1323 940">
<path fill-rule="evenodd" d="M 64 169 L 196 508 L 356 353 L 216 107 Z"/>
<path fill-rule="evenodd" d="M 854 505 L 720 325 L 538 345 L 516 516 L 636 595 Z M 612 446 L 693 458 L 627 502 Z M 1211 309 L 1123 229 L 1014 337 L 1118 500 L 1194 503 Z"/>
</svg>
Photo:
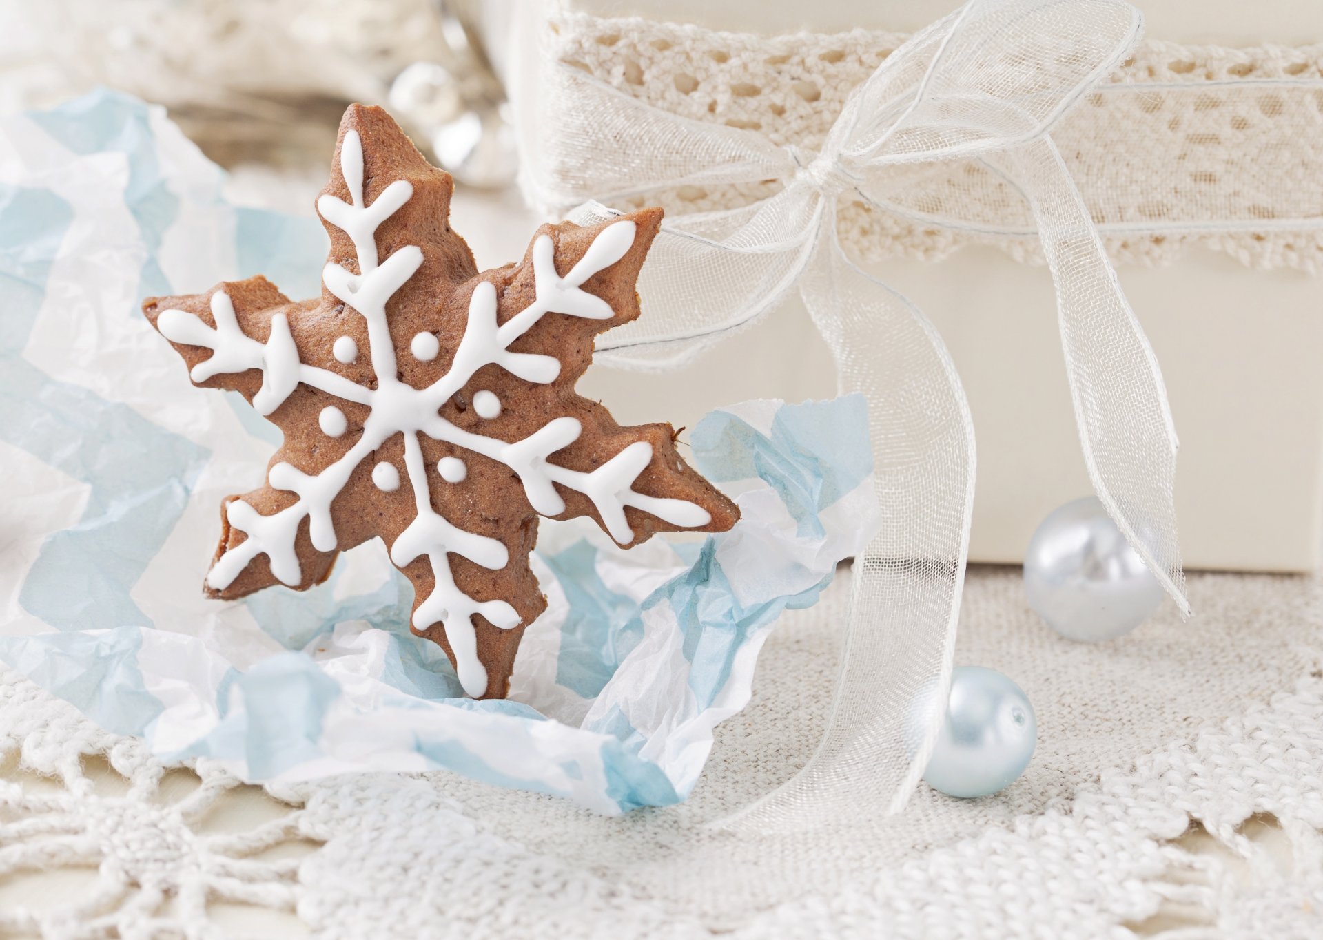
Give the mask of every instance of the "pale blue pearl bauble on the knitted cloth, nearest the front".
<svg viewBox="0 0 1323 940">
<path fill-rule="evenodd" d="M 1020 686 L 995 669 L 957 666 L 923 781 L 947 796 L 990 796 L 1024 773 L 1037 739 L 1033 706 Z"/>
</svg>

